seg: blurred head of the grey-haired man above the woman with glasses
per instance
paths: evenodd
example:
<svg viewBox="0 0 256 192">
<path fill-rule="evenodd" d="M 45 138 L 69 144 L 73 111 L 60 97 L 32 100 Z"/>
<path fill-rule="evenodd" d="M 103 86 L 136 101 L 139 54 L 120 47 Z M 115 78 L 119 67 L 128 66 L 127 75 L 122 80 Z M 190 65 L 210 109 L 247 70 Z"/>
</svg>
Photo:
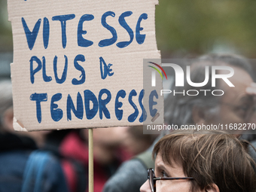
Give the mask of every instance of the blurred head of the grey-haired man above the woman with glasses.
<svg viewBox="0 0 256 192">
<path fill-rule="evenodd" d="M 253 90 L 256 90 L 254 74 L 247 59 L 235 54 L 208 54 L 194 59 L 190 64 L 190 79 L 194 83 L 205 80 L 206 66 L 209 66 L 209 81 L 203 87 L 192 87 L 185 82 L 184 87 L 175 87 L 176 92 L 181 90 L 197 90 L 197 96 L 177 94 L 169 97 L 165 102 L 165 115 L 169 124 L 179 127 L 186 124 L 229 124 L 251 122 L 254 114 Z M 228 66 L 234 75 L 227 78 L 234 87 L 230 87 L 221 78 L 216 78 L 216 85 L 212 86 L 212 66 Z M 227 70 L 217 70 L 217 75 L 229 73 Z M 210 90 L 210 91 L 200 91 Z M 212 90 L 223 90 L 223 96 L 215 96 Z M 221 94 L 221 92 L 216 92 Z M 191 94 L 194 94 L 191 92 Z M 205 96 L 206 95 L 206 96 Z"/>
</svg>

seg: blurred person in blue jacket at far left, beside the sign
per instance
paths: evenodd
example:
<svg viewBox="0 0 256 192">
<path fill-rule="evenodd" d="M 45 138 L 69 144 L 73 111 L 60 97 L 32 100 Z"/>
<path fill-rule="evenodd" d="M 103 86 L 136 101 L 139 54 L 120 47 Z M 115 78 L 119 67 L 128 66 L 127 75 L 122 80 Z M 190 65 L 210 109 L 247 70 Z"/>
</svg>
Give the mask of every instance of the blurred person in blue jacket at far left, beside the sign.
<svg viewBox="0 0 256 192">
<path fill-rule="evenodd" d="M 0 191 L 68 192 L 66 179 L 56 158 L 38 151 L 29 133 L 14 132 L 12 105 L 11 81 L 2 80 L 0 81 Z"/>
</svg>

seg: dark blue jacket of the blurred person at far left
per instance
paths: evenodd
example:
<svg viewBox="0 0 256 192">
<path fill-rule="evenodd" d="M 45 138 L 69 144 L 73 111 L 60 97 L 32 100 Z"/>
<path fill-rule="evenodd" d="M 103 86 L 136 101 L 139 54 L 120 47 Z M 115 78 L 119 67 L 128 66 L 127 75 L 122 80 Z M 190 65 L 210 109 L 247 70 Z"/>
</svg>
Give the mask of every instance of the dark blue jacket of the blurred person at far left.
<svg viewBox="0 0 256 192">
<path fill-rule="evenodd" d="M 20 192 L 23 185 L 23 172 L 35 142 L 25 136 L 11 133 L 0 134 L 0 192 Z M 31 183 L 31 191 L 35 182 Z M 42 192 L 67 192 L 66 180 L 59 162 L 52 156 L 44 169 L 41 180 Z M 27 191 L 29 192 L 29 191 Z"/>
</svg>

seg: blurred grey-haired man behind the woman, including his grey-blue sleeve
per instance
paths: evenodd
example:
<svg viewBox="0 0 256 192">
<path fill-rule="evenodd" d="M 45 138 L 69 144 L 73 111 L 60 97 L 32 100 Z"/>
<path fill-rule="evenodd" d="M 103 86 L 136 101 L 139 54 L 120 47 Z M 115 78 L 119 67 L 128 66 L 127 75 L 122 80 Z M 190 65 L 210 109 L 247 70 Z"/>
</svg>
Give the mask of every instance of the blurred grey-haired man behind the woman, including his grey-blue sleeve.
<svg viewBox="0 0 256 192">
<path fill-rule="evenodd" d="M 176 92 L 185 90 L 224 90 L 224 96 L 204 96 L 200 92 L 198 96 L 183 96 L 169 94 L 165 100 L 165 120 L 167 124 L 189 125 L 189 124 L 217 124 L 217 123 L 255 123 L 254 122 L 254 97 L 256 87 L 253 81 L 253 73 L 250 64 L 242 56 L 224 53 L 212 53 L 194 59 L 190 63 L 190 79 L 192 82 L 200 83 L 205 79 L 206 66 L 230 66 L 234 69 L 235 75 L 229 80 L 235 87 L 229 87 L 223 81 L 217 81 L 216 87 L 212 87 L 212 70 L 209 70 L 209 83 L 204 87 L 174 87 L 172 81 L 170 90 Z M 209 68 L 210 69 L 210 68 Z M 220 72 L 223 73 L 223 72 Z M 166 133 L 162 131 L 161 136 Z M 245 135 L 245 137 L 247 137 Z M 158 138 L 160 139 L 160 138 Z M 157 140 L 156 139 L 156 142 Z M 151 160 L 151 153 L 154 144 L 148 148 L 143 158 L 133 158 L 124 162 L 120 168 L 105 184 L 104 192 L 138 192 L 142 184 L 147 180 L 147 169 L 154 162 Z M 150 163 L 148 163 L 150 162 Z"/>
</svg>

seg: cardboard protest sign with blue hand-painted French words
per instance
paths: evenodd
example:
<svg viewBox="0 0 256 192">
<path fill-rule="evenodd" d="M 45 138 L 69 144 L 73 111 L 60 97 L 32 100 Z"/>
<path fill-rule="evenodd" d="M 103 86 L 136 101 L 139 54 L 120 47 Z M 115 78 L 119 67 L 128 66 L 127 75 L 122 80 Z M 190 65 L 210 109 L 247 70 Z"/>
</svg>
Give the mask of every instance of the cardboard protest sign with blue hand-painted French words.
<svg viewBox="0 0 256 192">
<path fill-rule="evenodd" d="M 163 123 L 163 98 L 143 87 L 143 59 L 160 58 L 157 3 L 8 0 L 14 129 L 133 126 L 154 109 Z"/>
</svg>

